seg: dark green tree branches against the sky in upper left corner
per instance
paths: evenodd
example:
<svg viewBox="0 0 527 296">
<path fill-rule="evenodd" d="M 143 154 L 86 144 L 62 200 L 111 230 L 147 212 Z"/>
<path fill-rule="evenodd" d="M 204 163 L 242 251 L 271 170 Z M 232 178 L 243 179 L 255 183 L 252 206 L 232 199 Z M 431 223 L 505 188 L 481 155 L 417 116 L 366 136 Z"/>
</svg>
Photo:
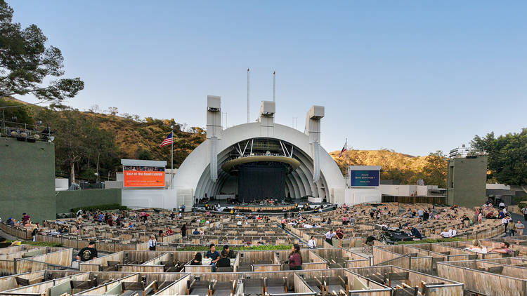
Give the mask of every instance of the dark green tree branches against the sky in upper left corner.
<svg viewBox="0 0 527 296">
<path fill-rule="evenodd" d="M 13 21 L 13 8 L 0 0 L 0 97 L 32 94 L 43 102 L 60 102 L 84 88 L 79 77 L 51 80 L 64 74 L 63 55 L 46 47 L 46 36 L 37 25 L 22 29 Z"/>
</svg>

